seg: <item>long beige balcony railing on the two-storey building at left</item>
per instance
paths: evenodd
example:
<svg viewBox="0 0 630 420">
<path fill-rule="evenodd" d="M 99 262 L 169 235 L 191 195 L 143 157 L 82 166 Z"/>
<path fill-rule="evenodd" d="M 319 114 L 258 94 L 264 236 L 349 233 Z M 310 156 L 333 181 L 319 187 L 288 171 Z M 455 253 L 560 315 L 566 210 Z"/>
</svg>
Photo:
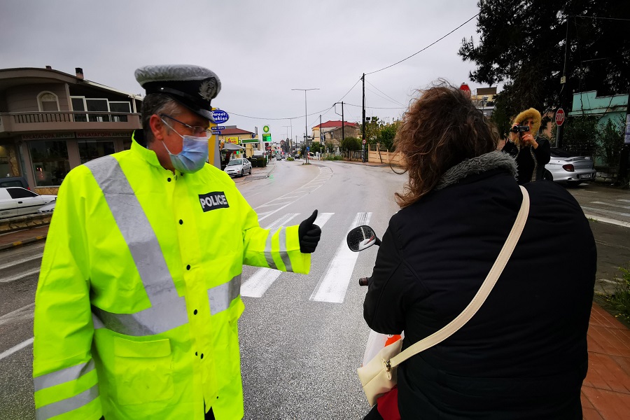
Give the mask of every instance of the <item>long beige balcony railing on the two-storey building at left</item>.
<svg viewBox="0 0 630 420">
<path fill-rule="evenodd" d="M 132 131 L 139 128 L 141 128 L 139 113 L 85 111 L 0 113 L 0 133 Z"/>
</svg>

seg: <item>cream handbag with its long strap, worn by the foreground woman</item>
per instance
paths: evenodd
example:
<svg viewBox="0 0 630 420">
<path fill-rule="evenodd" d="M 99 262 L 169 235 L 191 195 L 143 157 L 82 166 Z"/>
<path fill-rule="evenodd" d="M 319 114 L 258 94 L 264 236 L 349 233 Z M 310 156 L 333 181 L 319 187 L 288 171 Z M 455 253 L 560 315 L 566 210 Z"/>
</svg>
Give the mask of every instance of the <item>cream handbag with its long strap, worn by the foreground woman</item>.
<svg viewBox="0 0 630 420">
<path fill-rule="evenodd" d="M 521 232 L 523 232 L 525 222 L 527 221 L 529 214 L 529 195 L 525 188 L 522 186 L 520 188 L 521 193 L 523 193 L 523 202 L 521 202 L 521 209 L 519 210 L 516 221 L 514 221 L 510 235 L 507 236 L 505 244 L 503 244 L 503 248 L 501 248 L 481 288 L 479 288 L 475 297 L 472 298 L 472 301 L 470 301 L 461 314 L 444 328 L 412 344 L 405 349 L 405 351 L 402 351 L 402 353 L 400 352 L 402 349 L 402 339 L 385 346 L 367 365 L 363 365 L 363 367 L 357 369 L 358 377 L 363 385 L 363 391 L 365 392 L 365 396 L 367 396 L 367 402 L 370 402 L 370 406 L 376 404 L 377 399 L 381 395 L 391 391 L 391 388 L 395 386 L 396 367 L 400 365 L 400 363 L 450 337 L 454 332 L 463 327 L 465 323 L 470 321 L 470 318 L 475 315 L 479 307 L 485 302 L 486 297 L 488 297 L 501 272 L 503 272 L 507 260 L 510 259 L 510 255 L 512 255 L 512 251 L 514 251 L 514 247 L 519 241 L 519 237 L 521 237 Z"/>
</svg>

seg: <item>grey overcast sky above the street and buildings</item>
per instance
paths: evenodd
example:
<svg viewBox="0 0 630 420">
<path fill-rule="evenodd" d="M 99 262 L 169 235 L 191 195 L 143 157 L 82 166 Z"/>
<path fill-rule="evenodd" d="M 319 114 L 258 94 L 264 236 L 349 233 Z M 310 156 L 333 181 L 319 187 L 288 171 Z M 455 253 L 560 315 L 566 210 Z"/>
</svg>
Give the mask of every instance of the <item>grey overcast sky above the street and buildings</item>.
<svg viewBox="0 0 630 420">
<path fill-rule="evenodd" d="M 360 121 L 361 74 L 437 41 L 476 15 L 476 3 L 1 0 L 0 67 L 50 65 L 71 74 L 81 67 L 88 80 L 139 94 L 139 66 L 206 66 L 221 78 L 213 106 L 230 114 L 225 125 L 252 132 L 269 125 L 274 141 L 290 136 L 284 126 L 292 126 L 293 139 L 301 139 L 304 92 L 292 88 L 319 88 L 307 92 L 308 113 L 315 114 L 307 118 L 309 134 L 320 113 L 323 122 L 341 120 L 331 107 L 342 97 L 346 120 Z M 464 36 L 477 39 L 476 24 L 475 18 L 405 62 L 367 75 L 366 115 L 391 122 L 414 90 L 437 78 L 483 87 L 468 80 L 474 64 L 457 55 Z"/>
</svg>

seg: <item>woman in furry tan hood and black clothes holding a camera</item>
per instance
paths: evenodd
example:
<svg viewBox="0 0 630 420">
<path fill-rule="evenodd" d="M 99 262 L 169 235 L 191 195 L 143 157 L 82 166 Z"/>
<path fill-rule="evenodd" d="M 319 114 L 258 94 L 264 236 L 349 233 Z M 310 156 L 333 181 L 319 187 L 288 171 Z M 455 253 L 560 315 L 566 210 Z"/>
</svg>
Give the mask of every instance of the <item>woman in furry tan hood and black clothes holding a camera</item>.
<svg viewBox="0 0 630 420">
<path fill-rule="evenodd" d="M 503 151 L 517 162 L 520 185 L 544 179 L 550 155 L 549 141 L 538 138 L 540 121 L 540 112 L 533 108 L 519 113 L 512 122 L 510 140 L 503 146 Z"/>
</svg>

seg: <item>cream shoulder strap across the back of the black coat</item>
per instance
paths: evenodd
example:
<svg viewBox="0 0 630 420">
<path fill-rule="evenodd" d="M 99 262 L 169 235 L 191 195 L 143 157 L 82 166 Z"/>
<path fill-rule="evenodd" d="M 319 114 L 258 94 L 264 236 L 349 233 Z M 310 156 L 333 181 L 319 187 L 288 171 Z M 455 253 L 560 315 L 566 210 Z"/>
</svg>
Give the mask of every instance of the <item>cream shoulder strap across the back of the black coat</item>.
<svg viewBox="0 0 630 420">
<path fill-rule="evenodd" d="M 514 251 L 514 247 L 519 241 L 519 237 L 521 237 L 521 232 L 523 232 L 525 222 L 527 221 L 527 215 L 529 214 L 529 195 L 527 190 L 522 186 L 521 193 L 523 193 L 523 202 L 521 203 L 521 209 L 519 210 L 519 214 L 517 214 L 517 218 L 512 226 L 510 235 L 507 236 L 507 240 L 505 241 L 505 244 L 503 244 L 503 248 L 501 249 L 498 258 L 496 258 L 488 276 L 486 276 L 484 283 L 481 288 L 479 288 L 479 291 L 477 291 L 475 297 L 472 298 L 472 301 L 470 301 L 461 314 L 459 314 L 444 328 L 433 332 L 433 334 L 421 339 L 419 342 L 409 346 L 405 349 L 405 351 L 402 351 L 401 353 L 398 353 L 397 356 L 391 358 L 388 363 L 389 366 L 392 368 L 396 367 L 411 356 L 414 356 L 415 354 L 444 341 L 444 339 L 447 339 L 459 328 L 463 327 L 463 325 L 470 321 L 470 318 L 477 313 L 477 310 L 486 301 L 486 297 L 488 297 L 492 288 L 496 284 L 501 272 L 503 272 L 503 268 L 505 268 L 507 260 L 510 259 L 510 255 L 512 255 L 512 251 Z"/>
</svg>

